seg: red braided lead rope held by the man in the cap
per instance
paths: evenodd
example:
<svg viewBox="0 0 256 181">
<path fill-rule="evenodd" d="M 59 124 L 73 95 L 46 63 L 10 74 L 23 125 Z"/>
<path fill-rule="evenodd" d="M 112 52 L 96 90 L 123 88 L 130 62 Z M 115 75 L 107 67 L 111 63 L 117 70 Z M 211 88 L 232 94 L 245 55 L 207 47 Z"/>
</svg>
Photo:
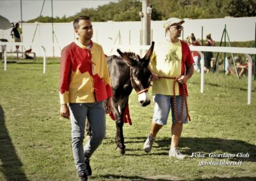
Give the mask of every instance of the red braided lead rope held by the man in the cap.
<svg viewBox="0 0 256 181">
<path fill-rule="evenodd" d="M 186 113 L 187 113 L 187 117 L 188 120 L 190 121 L 190 116 L 188 113 L 188 101 L 187 101 L 187 97 L 185 95 L 185 85 L 181 85 L 182 89 L 181 89 L 181 94 L 182 94 L 182 103 L 181 103 L 181 115 L 180 115 L 180 120 L 178 120 L 178 115 L 177 115 L 177 101 L 176 101 L 176 94 L 175 94 L 175 82 L 178 82 L 178 78 L 177 77 L 170 77 L 170 76 L 159 76 L 158 78 L 168 78 L 168 79 L 173 79 L 173 102 L 174 102 L 174 116 L 175 116 L 175 120 L 176 122 L 181 123 L 182 122 L 182 118 L 183 118 L 183 105 L 185 102 L 186 105 Z"/>
</svg>

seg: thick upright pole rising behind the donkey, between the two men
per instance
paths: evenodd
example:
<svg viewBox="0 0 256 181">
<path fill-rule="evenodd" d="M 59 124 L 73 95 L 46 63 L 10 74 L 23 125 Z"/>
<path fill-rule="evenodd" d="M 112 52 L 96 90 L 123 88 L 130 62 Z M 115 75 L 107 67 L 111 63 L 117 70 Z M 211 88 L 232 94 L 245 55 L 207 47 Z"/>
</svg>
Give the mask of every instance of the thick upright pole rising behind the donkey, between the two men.
<svg viewBox="0 0 256 181">
<path fill-rule="evenodd" d="M 142 45 L 150 45 L 150 31 L 151 31 L 151 0 L 142 1 Z"/>
</svg>

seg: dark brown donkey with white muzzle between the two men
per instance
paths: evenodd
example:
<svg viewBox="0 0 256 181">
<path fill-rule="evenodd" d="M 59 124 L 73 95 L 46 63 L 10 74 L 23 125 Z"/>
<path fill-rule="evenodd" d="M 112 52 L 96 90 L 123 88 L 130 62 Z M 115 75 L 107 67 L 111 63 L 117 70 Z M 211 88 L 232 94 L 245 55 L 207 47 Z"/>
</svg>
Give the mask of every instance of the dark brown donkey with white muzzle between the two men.
<svg viewBox="0 0 256 181">
<path fill-rule="evenodd" d="M 142 59 L 139 55 L 132 52 L 123 53 L 119 49 L 117 52 L 121 57 L 112 55 L 107 58 L 113 92 L 113 117 L 116 122 L 116 150 L 120 154 L 125 154 L 123 126 L 132 88 L 137 92 L 141 106 L 150 104 L 148 89 L 151 71 L 148 69 L 148 63 L 153 50 L 154 41 Z"/>
</svg>

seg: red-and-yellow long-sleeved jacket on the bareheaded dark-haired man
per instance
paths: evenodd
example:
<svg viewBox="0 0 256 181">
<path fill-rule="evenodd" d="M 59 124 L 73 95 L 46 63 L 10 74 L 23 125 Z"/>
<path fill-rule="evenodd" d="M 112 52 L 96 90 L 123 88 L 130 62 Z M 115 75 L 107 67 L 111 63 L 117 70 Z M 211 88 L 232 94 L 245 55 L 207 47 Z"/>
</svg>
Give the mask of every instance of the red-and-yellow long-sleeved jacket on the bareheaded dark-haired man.
<svg viewBox="0 0 256 181">
<path fill-rule="evenodd" d="M 79 41 L 61 51 L 60 103 L 94 103 L 112 97 L 108 65 L 102 47 Z"/>
</svg>

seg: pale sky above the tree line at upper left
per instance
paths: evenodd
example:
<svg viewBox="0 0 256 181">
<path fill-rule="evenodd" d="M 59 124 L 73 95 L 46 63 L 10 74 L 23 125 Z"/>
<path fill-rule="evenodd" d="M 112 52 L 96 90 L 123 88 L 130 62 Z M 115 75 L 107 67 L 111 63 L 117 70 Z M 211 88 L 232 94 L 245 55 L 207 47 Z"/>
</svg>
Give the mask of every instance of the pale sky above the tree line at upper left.
<svg viewBox="0 0 256 181">
<path fill-rule="evenodd" d="M 118 0 L 111 0 L 118 2 Z M 108 4 L 109 0 L 53 0 L 53 17 L 67 17 L 81 11 L 82 8 L 97 8 Z M 22 0 L 22 20 L 31 20 L 40 15 L 44 0 Z M 20 21 L 20 0 L 0 0 L 0 15 L 8 18 L 10 22 Z M 51 17 L 51 0 L 46 0 L 43 16 Z"/>
</svg>

